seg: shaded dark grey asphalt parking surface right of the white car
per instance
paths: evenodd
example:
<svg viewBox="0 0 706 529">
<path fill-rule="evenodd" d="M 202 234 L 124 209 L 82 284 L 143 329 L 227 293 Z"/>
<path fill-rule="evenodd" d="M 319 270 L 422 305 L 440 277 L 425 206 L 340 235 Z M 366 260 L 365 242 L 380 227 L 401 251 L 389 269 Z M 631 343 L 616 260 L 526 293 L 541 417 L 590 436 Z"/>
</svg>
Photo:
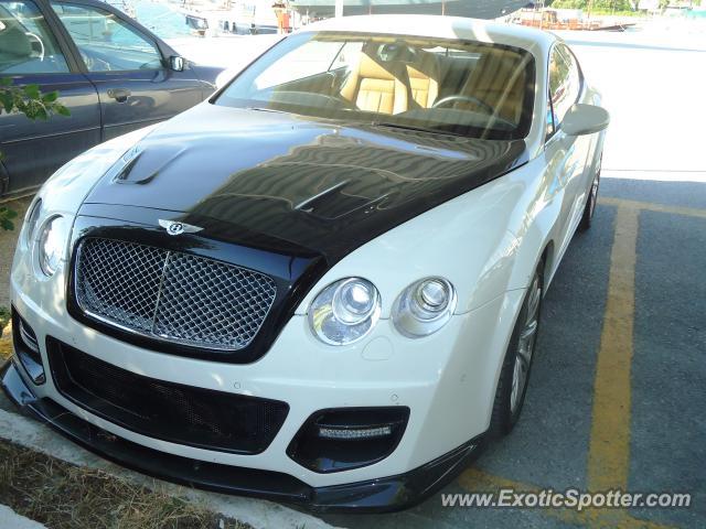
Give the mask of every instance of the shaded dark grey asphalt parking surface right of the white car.
<svg viewBox="0 0 706 529">
<path fill-rule="evenodd" d="M 651 196 L 654 185 L 663 199 L 633 199 Z M 492 445 L 452 485 L 414 509 L 382 516 L 328 516 L 327 521 L 378 529 L 706 527 L 706 282 L 702 278 L 706 180 L 698 186 L 683 186 L 606 179 L 601 191 L 603 202 L 593 226 L 576 235 L 545 298 L 525 408 L 513 433 Z M 634 233 L 617 224 L 619 209 L 638 218 Z M 616 389 L 619 395 L 627 392 L 628 401 L 609 399 L 607 406 L 597 406 L 595 391 L 606 388 L 598 377 L 614 381 L 614 375 L 599 371 L 597 364 L 601 355 L 613 354 L 602 339 L 611 319 L 609 279 L 611 272 L 622 272 L 611 267 L 611 258 L 621 251 L 617 234 L 635 240 L 633 333 L 618 336 L 620 350 L 616 352 L 631 350 L 627 368 L 616 368 L 623 371 L 623 384 Z M 616 433 L 624 430 L 627 447 L 621 447 L 619 435 L 600 439 L 597 423 L 614 425 Z M 591 458 L 591 453 L 598 456 Z M 618 468 L 611 467 L 616 460 Z M 692 507 L 578 514 L 441 504 L 441 494 L 500 488 L 602 490 L 591 484 L 591 475 L 600 473 L 608 474 L 602 483 L 622 490 L 691 493 Z"/>
</svg>

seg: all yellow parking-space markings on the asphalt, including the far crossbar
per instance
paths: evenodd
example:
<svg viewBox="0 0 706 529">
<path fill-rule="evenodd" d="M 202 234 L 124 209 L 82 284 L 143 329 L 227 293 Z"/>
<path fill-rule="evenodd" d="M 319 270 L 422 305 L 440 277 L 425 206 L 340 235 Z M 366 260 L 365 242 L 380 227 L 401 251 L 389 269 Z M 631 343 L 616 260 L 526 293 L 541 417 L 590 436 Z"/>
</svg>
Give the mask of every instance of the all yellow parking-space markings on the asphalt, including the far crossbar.
<svg viewBox="0 0 706 529">
<path fill-rule="evenodd" d="M 659 204 L 602 198 L 603 204 L 618 206 L 613 245 L 610 256 L 608 298 L 603 315 L 600 349 L 593 382 L 593 408 L 588 454 L 587 488 L 591 492 L 628 489 L 630 467 L 630 415 L 632 334 L 634 320 L 634 283 L 638 226 L 641 209 L 662 210 L 696 216 L 706 212 L 667 207 Z M 469 492 L 498 488 L 536 492 L 538 487 L 492 476 L 469 468 L 459 478 Z M 623 509 L 546 509 L 545 514 L 569 523 L 587 527 L 663 528 L 651 521 L 631 517 Z"/>
</svg>

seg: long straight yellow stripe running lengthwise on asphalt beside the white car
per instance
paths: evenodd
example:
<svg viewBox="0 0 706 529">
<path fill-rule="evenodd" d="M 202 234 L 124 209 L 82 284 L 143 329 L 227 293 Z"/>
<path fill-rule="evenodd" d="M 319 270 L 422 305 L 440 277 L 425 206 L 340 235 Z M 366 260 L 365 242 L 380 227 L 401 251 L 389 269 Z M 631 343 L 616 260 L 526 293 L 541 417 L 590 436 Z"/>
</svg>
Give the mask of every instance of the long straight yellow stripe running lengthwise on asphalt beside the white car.
<svg viewBox="0 0 706 529">
<path fill-rule="evenodd" d="M 618 206 L 608 299 L 593 382 L 588 488 L 628 488 L 637 208 Z"/>
</svg>

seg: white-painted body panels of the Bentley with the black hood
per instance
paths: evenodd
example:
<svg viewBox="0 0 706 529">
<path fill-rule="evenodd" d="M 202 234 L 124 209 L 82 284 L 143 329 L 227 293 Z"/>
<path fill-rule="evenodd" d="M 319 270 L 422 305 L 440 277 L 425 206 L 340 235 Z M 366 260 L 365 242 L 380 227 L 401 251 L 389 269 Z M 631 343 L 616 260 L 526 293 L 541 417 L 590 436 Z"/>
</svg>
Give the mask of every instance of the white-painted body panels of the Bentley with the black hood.
<svg viewBox="0 0 706 529">
<path fill-rule="evenodd" d="M 526 289 L 542 259 L 545 291 L 559 266 L 600 170 L 605 131 L 569 136 L 559 128 L 546 139 L 547 63 L 553 46 L 560 43 L 549 33 L 467 19 L 385 15 L 330 20 L 301 31 L 462 39 L 530 51 L 537 77 L 534 118 L 525 138 L 527 163 L 394 227 L 344 257 L 303 298 L 267 354 L 252 364 L 168 355 L 77 322 L 65 306 L 69 249 L 58 271 L 46 278 L 39 269 L 35 240 L 26 240 L 25 234 L 20 236 L 14 257 L 11 295 L 12 305 L 35 331 L 40 344 L 51 335 L 131 373 L 279 399 L 290 410 L 265 452 L 239 455 L 141 435 L 66 399 L 51 376 L 34 386 L 20 370 L 38 399 L 49 397 L 88 423 L 159 452 L 285 473 L 311 487 L 328 487 L 408 473 L 489 430 L 503 358 Z M 584 80 L 577 102 L 598 106 L 600 96 Z M 38 195 L 43 201 L 43 218 L 61 214 L 73 224 L 98 179 L 149 133 L 141 130 L 98 145 L 60 170 Z M 458 293 L 458 304 L 440 332 L 410 339 L 393 325 L 393 302 L 407 285 L 428 276 L 447 278 Z M 363 277 L 377 287 L 381 317 L 364 339 L 332 347 L 314 337 L 308 311 L 325 285 L 349 277 Z M 44 346 L 41 348 L 46 363 Z M 368 406 L 410 409 L 393 455 L 330 474 L 312 472 L 287 455 L 288 444 L 317 410 Z"/>
</svg>

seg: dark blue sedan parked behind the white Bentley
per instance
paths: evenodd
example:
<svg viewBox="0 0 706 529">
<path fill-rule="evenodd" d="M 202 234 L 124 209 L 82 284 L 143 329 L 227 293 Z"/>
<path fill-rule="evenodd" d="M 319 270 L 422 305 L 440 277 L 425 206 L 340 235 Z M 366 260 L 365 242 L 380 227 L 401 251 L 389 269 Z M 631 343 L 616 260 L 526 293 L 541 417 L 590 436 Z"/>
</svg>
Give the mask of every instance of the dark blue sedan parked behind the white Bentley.
<svg viewBox="0 0 706 529">
<path fill-rule="evenodd" d="M 0 116 L 0 195 L 32 191 L 86 149 L 196 105 L 220 72 L 100 1 L 0 0 L 0 77 L 58 90 L 71 111 Z"/>
</svg>

